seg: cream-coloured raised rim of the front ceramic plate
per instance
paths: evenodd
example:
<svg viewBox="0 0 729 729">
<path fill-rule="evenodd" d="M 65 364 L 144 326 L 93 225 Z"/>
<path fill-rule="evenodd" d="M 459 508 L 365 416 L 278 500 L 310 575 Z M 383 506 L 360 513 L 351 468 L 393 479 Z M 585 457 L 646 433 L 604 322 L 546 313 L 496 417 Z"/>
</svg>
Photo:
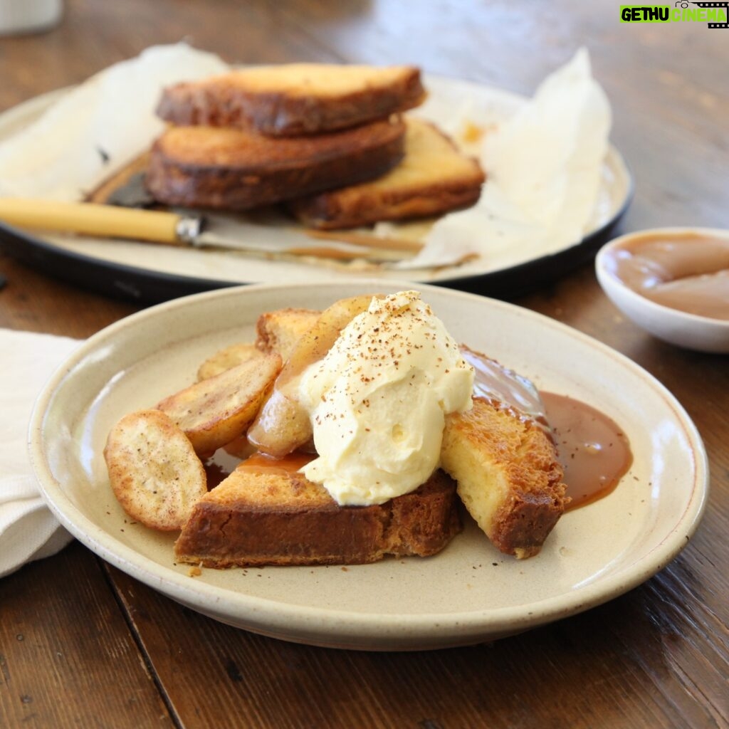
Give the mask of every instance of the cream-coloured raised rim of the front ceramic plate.
<svg viewBox="0 0 729 729">
<path fill-rule="evenodd" d="M 389 284 L 391 282 L 388 282 Z M 401 282 L 402 287 L 412 286 Z M 375 290 L 381 281 L 361 279 L 356 282 L 360 290 Z M 287 289 L 321 289 L 322 286 L 341 288 L 340 283 L 313 282 L 312 284 L 292 284 Z M 85 356 L 95 351 L 105 341 L 114 338 L 123 327 L 144 323 L 151 317 L 160 316 L 167 311 L 175 311 L 196 302 L 224 297 L 250 296 L 270 289 L 283 289 L 280 284 L 254 284 L 236 289 L 221 289 L 214 292 L 184 297 L 165 304 L 149 308 L 122 321 L 112 324 L 105 330 L 93 335 L 74 351 L 66 362 L 55 371 L 36 401 L 29 427 L 29 452 L 31 462 L 39 480 L 42 494 L 52 512 L 59 521 L 82 543 L 90 547 L 106 561 L 122 571 L 145 582 L 147 585 L 162 591 L 169 597 L 187 604 L 198 612 L 216 617 L 223 622 L 230 622 L 261 634 L 268 634 L 286 639 L 299 640 L 312 644 L 331 644 L 336 647 L 363 647 L 372 642 L 372 647 L 380 650 L 391 648 L 418 649 L 422 647 L 445 647 L 457 644 L 472 644 L 480 640 L 490 639 L 506 634 L 513 634 L 528 628 L 547 623 L 559 617 L 567 617 L 577 612 L 594 607 L 604 601 L 624 593 L 643 582 L 652 574 L 663 569 L 671 559 L 687 544 L 703 514 L 709 487 L 709 469 L 706 451 L 701 437 L 695 429 L 682 406 L 674 396 L 652 375 L 646 373 L 637 364 L 604 344 L 587 335 L 567 327 L 546 316 L 521 309 L 515 305 L 485 299 L 462 292 L 436 289 L 434 286 L 418 285 L 426 298 L 429 290 L 437 290 L 439 295 L 483 303 L 486 308 L 496 311 L 510 311 L 520 316 L 536 318 L 540 326 L 548 327 L 555 335 L 568 337 L 598 351 L 601 356 L 609 357 L 634 373 L 639 373 L 647 387 L 652 388 L 671 408 L 677 423 L 690 443 L 690 458 L 693 459 L 694 483 L 687 487 L 690 494 L 685 510 L 676 516 L 671 529 L 660 539 L 660 543 L 638 561 L 621 566 L 617 572 L 601 577 L 580 588 L 569 590 L 549 599 L 532 601 L 518 606 L 496 609 L 469 610 L 467 612 L 418 613 L 408 615 L 407 623 L 402 623 L 402 616 L 391 614 L 374 614 L 356 610 L 322 609 L 282 604 L 279 601 L 246 595 L 238 591 L 218 588 L 197 582 L 183 574 L 174 572 L 159 565 L 132 548 L 123 545 L 109 534 L 109 531 L 97 526 L 87 518 L 71 502 L 63 491 L 63 486 L 55 480 L 44 452 L 44 418 L 49 409 L 55 391 L 63 386 L 63 381 L 74 367 Z M 295 568 L 291 568 L 295 569 Z M 245 625 L 241 625 L 243 618 Z M 437 635 L 434 634 L 434 622 L 439 624 Z M 331 635 L 331 638 L 327 636 Z M 394 637 L 397 636 L 397 637 Z"/>
</svg>

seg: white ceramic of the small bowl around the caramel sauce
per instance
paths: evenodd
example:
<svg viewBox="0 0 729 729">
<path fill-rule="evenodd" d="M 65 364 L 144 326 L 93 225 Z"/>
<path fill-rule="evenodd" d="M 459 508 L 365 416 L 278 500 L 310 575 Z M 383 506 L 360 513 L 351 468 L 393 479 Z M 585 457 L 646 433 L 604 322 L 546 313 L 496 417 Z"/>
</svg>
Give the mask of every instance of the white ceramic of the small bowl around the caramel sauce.
<svg viewBox="0 0 729 729">
<path fill-rule="evenodd" d="M 628 288 L 620 281 L 615 273 L 607 268 L 608 255 L 616 248 L 625 246 L 625 243 L 638 236 L 665 235 L 672 236 L 695 233 L 713 237 L 729 238 L 728 230 L 716 228 L 689 228 L 670 227 L 642 230 L 636 233 L 621 235 L 620 238 L 610 241 L 603 246 L 595 260 L 595 270 L 603 291 L 622 311 L 639 327 L 658 339 L 687 349 L 703 352 L 729 353 L 729 320 L 712 319 L 708 316 L 698 316 L 678 309 L 669 308 L 655 303 L 646 297 Z"/>
</svg>

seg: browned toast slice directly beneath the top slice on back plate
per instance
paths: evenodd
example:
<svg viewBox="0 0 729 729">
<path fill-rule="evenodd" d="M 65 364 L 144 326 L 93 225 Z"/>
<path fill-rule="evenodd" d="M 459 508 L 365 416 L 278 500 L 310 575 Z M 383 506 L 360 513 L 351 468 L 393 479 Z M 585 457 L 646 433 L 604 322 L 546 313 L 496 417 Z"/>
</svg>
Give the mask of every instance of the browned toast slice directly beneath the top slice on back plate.
<svg viewBox="0 0 729 729">
<path fill-rule="evenodd" d="M 373 179 L 402 159 L 397 117 L 311 137 L 172 127 L 152 145 L 146 184 L 160 203 L 249 210 Z"/>
</svg>

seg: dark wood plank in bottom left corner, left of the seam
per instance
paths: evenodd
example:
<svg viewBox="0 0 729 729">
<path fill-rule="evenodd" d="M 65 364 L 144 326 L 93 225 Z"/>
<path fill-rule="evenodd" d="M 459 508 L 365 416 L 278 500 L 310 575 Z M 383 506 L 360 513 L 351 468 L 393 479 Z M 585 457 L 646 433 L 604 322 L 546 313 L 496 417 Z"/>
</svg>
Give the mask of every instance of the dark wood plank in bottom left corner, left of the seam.
<svg viewBox="0 0 729 729">
<path fill-rule="evenodd" d="M 0 726 L 172 725 L 90 552 L 74 543 L 0 580 Z"/>
</svg>

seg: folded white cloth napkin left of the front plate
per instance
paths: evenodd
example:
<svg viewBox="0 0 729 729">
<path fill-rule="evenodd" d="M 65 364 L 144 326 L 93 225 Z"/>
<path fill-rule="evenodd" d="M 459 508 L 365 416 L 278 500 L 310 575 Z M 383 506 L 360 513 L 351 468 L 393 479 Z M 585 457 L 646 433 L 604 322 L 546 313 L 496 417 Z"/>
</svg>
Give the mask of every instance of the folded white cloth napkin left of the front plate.
<svg viewBox="0 0 729 729">
<path fill-rule="evenodd" d="M 28 459 L 36 396 L 78 340 L 0 329 L 0 577 L 71 541 L 45 505 Z"/>
</svg>

